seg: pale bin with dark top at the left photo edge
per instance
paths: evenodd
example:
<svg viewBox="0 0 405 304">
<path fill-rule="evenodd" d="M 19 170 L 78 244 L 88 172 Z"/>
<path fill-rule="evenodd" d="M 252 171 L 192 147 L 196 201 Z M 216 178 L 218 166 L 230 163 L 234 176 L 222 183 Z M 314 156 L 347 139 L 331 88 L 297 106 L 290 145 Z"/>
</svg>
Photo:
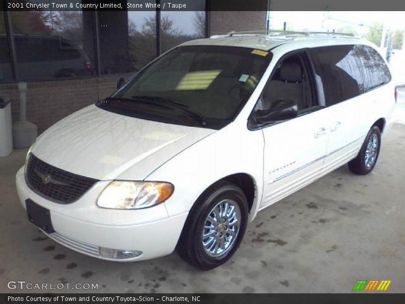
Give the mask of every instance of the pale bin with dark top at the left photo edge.
<svg viewBox="0 0 405 304">
<path fill-rule="evenodd" d="M 10 100 L 0 97 L 0 157 L 9 156 L 13 151 L 13 125 Z"/>
</svg>

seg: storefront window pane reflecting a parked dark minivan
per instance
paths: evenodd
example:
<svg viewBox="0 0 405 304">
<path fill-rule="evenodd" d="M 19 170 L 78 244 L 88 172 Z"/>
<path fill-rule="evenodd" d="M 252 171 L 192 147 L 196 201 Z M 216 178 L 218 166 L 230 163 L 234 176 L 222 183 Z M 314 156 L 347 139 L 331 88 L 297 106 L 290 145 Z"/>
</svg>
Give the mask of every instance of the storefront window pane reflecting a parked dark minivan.
<svg viewBox="0 0 405 304">
<path fill-rule="evenodd" d="M 86 77 L 94 68 L 91 12 L 10 12 L 20 80 Z"/>
</svg>

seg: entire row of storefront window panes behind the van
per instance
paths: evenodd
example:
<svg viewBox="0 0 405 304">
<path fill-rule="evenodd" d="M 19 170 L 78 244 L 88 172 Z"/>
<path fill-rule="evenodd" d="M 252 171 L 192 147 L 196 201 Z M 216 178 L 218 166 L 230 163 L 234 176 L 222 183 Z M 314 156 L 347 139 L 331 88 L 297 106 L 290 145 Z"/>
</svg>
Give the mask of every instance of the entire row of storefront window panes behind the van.
<svg viewBox="0 0 405 304">
<path fill-rule="evenodd" d="M 205 1 L 200 1 L 205 6 Z M 6 16 L 11 22 L 14 56 L 9 50 Z M 52 80 L 134 73 L 155 59 L 158 53 L 204 37 L 205 31 L 205 11 L 160 12 L 159 37 L 156 11 L 2 12 L 0 80 Z M 157 39 L 160 50 L 156 49 Z M 11 64 L 13 58 L 16 60 L 15 75 Z"/>
</svg>

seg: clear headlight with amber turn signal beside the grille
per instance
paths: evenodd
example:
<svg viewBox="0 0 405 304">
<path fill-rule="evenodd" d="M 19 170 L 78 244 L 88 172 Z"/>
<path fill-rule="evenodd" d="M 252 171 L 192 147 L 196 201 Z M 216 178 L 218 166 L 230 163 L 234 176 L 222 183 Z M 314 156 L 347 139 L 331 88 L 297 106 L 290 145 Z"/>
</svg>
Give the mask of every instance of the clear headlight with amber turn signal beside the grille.
<svg viewBox="0 0 405 304">
<path fill-rule="evenodd" d="M 110 182 L 97 200 L 97 205 L 110 209 L 142 209 L 166 201 L 174 186 L 167 182 L 125 181 Z"/>
</svg>

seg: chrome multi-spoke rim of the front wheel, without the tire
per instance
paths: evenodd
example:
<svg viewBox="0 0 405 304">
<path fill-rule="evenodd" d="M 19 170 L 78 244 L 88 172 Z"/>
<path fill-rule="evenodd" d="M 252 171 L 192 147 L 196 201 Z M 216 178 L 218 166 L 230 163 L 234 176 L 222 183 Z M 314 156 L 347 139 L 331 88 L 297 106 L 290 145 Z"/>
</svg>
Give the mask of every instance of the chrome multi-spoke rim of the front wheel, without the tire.
<svg viewBox="0 0 405 304">
<path fill-rule="evenodd" d="M 204 222 L 202 241 L 209 256 L 222 256 L 233 247 L 240 219 L 239 205 L 233 200 L 223 200 L 211 209 Z"/>
</svg>

